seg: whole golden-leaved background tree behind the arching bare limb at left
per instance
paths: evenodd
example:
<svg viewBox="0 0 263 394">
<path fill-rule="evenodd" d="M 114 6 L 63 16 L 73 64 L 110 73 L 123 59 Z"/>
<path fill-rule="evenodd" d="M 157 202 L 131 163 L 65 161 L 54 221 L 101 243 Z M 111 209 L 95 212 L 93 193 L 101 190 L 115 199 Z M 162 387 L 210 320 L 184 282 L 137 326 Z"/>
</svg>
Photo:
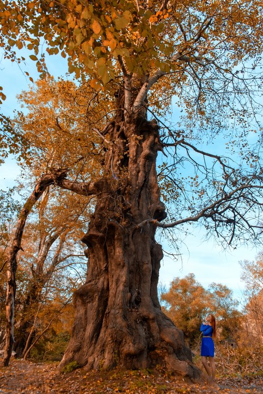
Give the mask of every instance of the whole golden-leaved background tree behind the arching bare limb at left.
<svg viewBox="0 0 263 394">
<path fill-rule="evenodd" d="M 40 174 L 47 173 L 52 166 L 63 167 L 69 162 L 72 171 L 85 174 L 85 179 L 94 176 L 98 170 L 96 159 L 89 160 L 87 164 L 86 154 L 76 160 L 76 149 L 80 154 L 81 144 L 85 144 L 85 150 L 89 147 L 88 142 L 81 140 L 84 111 L 74 110 L 76 100 L 81 106 L 81 98 L 73 83 L 62 80 L 55 82 L 52 78 L 38 81 L 34 91 L 20 95 L 22 107 L 27 107 L 27 115 L 18 113 L 13 121 L 13 129 L 30 145 L 30 161 L 23 162 L 19 189 L 24 190 L 36 183 Z M 87 123 L 84 126 L 87 129 Z M 70 127 L 74 127 L 72 133 L 75 143 L 69 137 Z M 70 161 L 72 157 L 75 167 Z M 56 281 L 54 276 L 58 276 L 61 266 L 68 273 L 70 270 L 79 270 L 80 279 L 83 276 L 81 259 L 85 256 L 79 239 L 84 235 L 85 222 L 88 220 L 88 203 L 83 196 L 61 190 L 58 192 L 48 186 L 25 227 L 22 250 L 26 252 L 20 253 L 19 259 L 20 264 L 28 266 L 29 278 L 27 286 L 24 281 L 24 294 L 20 292 L 19 315 L 15 324 L 14 350 L 19 356 L 26 354 L 37 336 L 39 318 L 36 319 L 35 314 L 39 316 L 39 308 L 42 309 L 46 304 L 44 300 L 50 297 L 50 289 Z M 74 265 L 78 268 L 74 268 Z M 63 287 L 62 293 L 66 292 L 66 283 Z"/>
</svg>

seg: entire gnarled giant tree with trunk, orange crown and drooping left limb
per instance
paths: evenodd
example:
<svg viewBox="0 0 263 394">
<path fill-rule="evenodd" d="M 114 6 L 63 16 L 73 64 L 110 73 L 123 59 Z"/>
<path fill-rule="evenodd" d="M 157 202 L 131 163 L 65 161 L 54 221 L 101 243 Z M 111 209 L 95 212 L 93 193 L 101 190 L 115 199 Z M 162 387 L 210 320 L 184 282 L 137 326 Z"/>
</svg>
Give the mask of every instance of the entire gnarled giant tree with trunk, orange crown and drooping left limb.
<svg viewBox="0 0 263 394">
<path fill-rule="evenodd" d="M 199 220 L 228 243 L 257 238 L 263 179 L 260 136 L 251 131 L 260 130 L 262 2 L 1 1 L 0 23 L 0 45 L 12 61 L 21 61 L 17 48 L 26 47 L 44 77 L 43 42 L 50 55 L 68 59 L 69 73 L 84 89 L 75 105 L 86 106 L 87 117 L 72 168 L 53 158 L 19 219 L 8 261 L 5 364 L 24 224 L 54 184 L 96 203 L 83 237 L 87 281 L 75 293 L 75 323 L 60 367 L 71 361 L 87 369 L 164 364 L 198 376 L 182 332 L 160 309 L 163 252 L 155 232 Z M 172 97 L 182 109 L 176 128 L 165 120 Z M 59 118 L 54 122 L 67 133 Z M 4 135 L 15 140 L 10 133 Z M 198 145 L 217 135 L 235 161 Z M 158 152 L 167 158 L 157 174 Z M 74 165 L 91 159 L 101 168 L 88 180 Z"/>
</svg>

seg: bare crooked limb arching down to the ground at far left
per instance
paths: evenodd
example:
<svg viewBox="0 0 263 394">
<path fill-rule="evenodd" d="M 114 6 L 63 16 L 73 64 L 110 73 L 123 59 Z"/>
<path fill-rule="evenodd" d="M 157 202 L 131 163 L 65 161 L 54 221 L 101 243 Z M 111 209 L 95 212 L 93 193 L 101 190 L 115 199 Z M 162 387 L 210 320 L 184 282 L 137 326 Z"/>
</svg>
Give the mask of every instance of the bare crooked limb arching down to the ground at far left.
<svg viewBox="0 0 263 394">
<path fill-rule="evenodd" d="M 17 270 L 17 253 L 21 247 L 21 240 L 24 232 L 27 217 L 36 201 L 42 196 L 46 188 L 64 179 L 66 176 L 65 170 L 54 171 L 51 174 L 44 175 L 36 184 L 34 191 L 25 203 L 14 232 L 12 244 L 7 255 L 7 289 L 6 289 L 6 340 L 4 348 L 3 365 L 7 366 L 12 354 L 14 344 L 14 305 L 16 295 L 16 270 Z"/>
</svg>

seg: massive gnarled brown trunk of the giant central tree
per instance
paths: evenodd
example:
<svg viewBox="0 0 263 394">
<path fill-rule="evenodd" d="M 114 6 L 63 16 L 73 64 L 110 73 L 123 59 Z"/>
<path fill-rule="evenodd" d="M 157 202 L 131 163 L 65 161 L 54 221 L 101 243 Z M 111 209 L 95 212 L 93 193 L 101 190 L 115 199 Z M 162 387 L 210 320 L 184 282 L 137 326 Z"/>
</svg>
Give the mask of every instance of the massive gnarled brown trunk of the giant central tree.
<svg viewBox="0 0 263 394">
<path fill-rule="evenodd" d="M 103 182 L 83 242 L 88 245 L 86 284 L 74 296 L 76 318 L 60 368 L 146 368 L 156 364 L 191 377 L 183 333 L 161 311 L 157 283 L 162 247 L 154 222 L 166 217 L 156 174 L 161 150 L 155 121 L 116 119 L 104 134 Z"/>
</svg>

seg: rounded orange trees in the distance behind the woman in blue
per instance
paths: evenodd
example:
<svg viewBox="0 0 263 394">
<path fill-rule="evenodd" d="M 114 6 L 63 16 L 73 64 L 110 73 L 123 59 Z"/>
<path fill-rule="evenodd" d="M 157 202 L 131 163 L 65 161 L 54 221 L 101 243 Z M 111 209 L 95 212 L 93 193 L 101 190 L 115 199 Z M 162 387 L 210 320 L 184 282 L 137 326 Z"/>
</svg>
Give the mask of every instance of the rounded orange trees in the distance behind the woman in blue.
<svg viewBox="0 0 263 394">
<path fill-rule="evenodd" d="M 161 295 L 167 305 L 165 313 L 180 328 L 191 348 L 200 338 L 200 326 L 208 313 L 216 316 L 219 340 L 230 335 L 237 339 L 241 328 L 241 313 L 233 291 L 220 283 L 212 283 L 209 289 L 196 280 L 193 273 L 183 278 L 176 277 L 167 292 Z"/>
</svg>

